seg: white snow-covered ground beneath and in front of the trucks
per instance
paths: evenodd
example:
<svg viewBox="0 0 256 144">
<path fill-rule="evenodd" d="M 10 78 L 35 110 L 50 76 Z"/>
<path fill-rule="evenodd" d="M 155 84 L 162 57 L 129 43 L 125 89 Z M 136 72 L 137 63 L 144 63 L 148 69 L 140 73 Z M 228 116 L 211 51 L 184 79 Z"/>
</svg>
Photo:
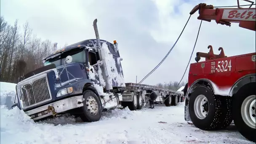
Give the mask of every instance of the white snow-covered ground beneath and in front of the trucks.
<svg viewBox="0 0 256 144">
<path fill-rule="evenodd" d="M 2 103 L 4 97 L 15 95 L 15 85 L 14 89 L 10 85 L 1 83 L 1 144 L 253 144 L 234 125 L 224 131 L 202 131 L 187 124 L 184 103 L 138 111 L 115 109 L 93 123 L 67 115 L 35 123 L 17 107 L 2 105 L 8 104 Z"/>
</svg>

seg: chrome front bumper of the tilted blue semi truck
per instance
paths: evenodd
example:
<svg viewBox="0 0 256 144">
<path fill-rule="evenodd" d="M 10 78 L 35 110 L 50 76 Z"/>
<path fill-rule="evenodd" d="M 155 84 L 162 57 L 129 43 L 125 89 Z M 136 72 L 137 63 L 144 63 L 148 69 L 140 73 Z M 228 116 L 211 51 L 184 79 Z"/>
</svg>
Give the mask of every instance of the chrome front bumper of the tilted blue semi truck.
<svg viewBox="0 0 256 144">
<path fill-rule="evenodd" d="M 53 102 L 51 104 L 46 104 L 42 107 L 29 110 L 25 113 L 29 115 L 32 118 L 32 120 L 40 120 L 44 117 L 53 115 L 52 112 L 48 111 L 48 106 L 53 107 L 54 112 L 61 113 L 70 109 L 75 109 L 77 107 L 83 107 L 83 101 L 84 101 L 83 96 L 74 96 L 74 97 Z"/>
</svg>

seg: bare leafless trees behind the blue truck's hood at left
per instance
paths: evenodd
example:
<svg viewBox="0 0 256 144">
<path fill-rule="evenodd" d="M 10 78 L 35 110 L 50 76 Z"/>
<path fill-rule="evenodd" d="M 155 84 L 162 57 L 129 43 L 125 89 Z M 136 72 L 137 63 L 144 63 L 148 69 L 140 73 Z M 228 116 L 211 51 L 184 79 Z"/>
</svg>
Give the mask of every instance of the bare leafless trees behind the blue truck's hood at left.
<svg viewBox="0 0 256 144">
<path fill-rule="evenodd" d="M 56 43 L 32 34 L 28 21 L 19 27 L 0 17 L 0 81 L 17 83 L 18 77 L 43 67 L 43 58 L 57 50 Z"/>
</svg>

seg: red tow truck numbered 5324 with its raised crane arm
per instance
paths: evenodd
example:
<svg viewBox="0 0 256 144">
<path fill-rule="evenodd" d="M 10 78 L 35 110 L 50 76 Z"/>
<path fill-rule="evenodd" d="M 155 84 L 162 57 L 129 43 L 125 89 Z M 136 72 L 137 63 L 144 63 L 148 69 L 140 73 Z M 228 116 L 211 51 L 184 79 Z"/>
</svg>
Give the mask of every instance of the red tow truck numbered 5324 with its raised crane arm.
<svg viewBox="0 0 256 144">
<path fill-rule="evenodd" d="M 248 0 L 246 0 L 248 1 Z M 217 24 L 256 30 L 256 8 L 214 8 L 200 3 L 190 14 L 199 11 L 197 19 L 215 20 Z M 220 130 L 234 123 L 248 140 L 256 142 L 256 53 L 225 56 L 196 53 L 190 64 L 188 84 L 184 88 L 185 120 L 202 130 Z M 205 61 L 200 61 L 205 58 Z M 200 62 L 199 62 L 200 61 Z"/>
</svg>

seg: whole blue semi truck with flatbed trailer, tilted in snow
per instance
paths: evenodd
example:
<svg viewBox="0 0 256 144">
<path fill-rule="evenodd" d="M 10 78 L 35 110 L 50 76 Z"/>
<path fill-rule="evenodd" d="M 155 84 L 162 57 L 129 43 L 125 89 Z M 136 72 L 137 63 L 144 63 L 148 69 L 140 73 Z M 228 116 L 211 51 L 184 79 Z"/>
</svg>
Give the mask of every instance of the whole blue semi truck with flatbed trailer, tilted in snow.
<svg viewBox="0 0 256 144">
<path fill-rule="evenodd" d="M 93 27 L 96 39 L 60 49 L 43 59 L 44 67 L 20 77 L 13 107 L 35 121 L 70 113 L 93 122 L 119 105 L 136 110 L 148 102 L 152 108 L 184 101 L 183 92 L 125 83 L 117 42 L 99 39 L 97 19 Z"/>
</svg>

